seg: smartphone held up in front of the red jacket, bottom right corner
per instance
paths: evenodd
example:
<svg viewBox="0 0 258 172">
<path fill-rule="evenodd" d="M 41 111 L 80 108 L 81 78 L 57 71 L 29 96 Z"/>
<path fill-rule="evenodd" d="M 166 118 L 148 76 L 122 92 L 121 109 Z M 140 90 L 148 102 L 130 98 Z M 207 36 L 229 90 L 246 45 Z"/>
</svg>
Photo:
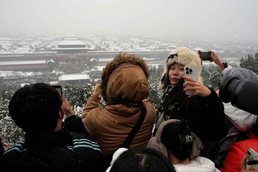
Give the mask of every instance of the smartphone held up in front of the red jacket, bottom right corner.
<svg viewBox="0 0 258 172">
<path fill-rule="evenodd" d="M 253 164 L 254 161 L 258 161 L 258 153 L 255 152 L 255 150 L 253 150 L 252 148 L 248 148 L 246 152 L 247 170 L 258 171 L 258 164 Z"/>
</svg>

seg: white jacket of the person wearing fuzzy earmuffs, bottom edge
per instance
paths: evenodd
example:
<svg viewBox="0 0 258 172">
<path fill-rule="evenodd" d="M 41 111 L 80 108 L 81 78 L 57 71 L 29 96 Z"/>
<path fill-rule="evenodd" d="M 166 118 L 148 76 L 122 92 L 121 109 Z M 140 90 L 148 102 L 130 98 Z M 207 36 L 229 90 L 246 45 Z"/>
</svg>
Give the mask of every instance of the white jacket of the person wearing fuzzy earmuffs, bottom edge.
<svg viewBox="0 0 258 172">
<path fill-rule="evenodd" d="M 190 164 L 173 164 L 177 172 L 220 172 L 208 158 L 198 156 Z"/>
</svg>

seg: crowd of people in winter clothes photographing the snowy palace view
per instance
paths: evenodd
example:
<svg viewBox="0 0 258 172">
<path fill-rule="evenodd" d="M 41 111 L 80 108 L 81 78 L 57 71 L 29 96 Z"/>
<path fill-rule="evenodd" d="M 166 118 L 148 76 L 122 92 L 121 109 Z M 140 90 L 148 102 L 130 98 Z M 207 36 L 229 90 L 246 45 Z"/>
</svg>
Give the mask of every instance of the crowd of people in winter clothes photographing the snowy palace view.
<svg viewBox="0 0 258 172">
<path fill-rule="evenodd" d="M 232 68 L 210 52 L 211 62 L 222 70 L 222 83 L 231 75 L 258 81 L 252 71 Z M 185 66 L 197 67 L 198 80 L 184 76 Z M 247 148 L 258 152 L 257 116 L 222 103 L 219 90 L 203 85 L 201 71 L 197 53 L 187 47 L 172 51 L 156 111 L 146 100 L 147 64 L 120 53 L 103 69 L 81 118 L 69 97 L 60 97 L 50 85 L 25 85 L 8 106 L 25 140 L 8 149 L 1 138 L 1 163 L 63 171 L 247 172 Z M 101 97 L 104 108 L 99 107 Z"/>
</svg>

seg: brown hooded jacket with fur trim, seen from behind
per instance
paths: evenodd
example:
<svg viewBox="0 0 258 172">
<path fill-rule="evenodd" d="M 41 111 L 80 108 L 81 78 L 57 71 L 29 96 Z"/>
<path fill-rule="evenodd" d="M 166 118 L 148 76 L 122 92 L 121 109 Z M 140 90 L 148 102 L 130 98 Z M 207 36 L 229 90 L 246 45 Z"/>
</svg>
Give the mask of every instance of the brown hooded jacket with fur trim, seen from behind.
<svg viewBox="0 0 258 172">
<path fill-rule="evenodd" d="M 132 102 L 143 100 L 146 115 L 130 144 L 132 148 L 146 146 L 152 136 L 155 109 L 144 100 L 149 95 L 148 75 L 146 63 L 129 54 L 118 55 L 102 73 L 100 92 L 104 100 L 113 97 Z M 139 119 L 141 109 L 128 105 L 110 105 L 101 109 L 99 100 L 98 96 L 92 94 L 81 118 L 88 134 L 99 144 L 103 155 L 107 156 L 124 142 Z"/>
</svg>

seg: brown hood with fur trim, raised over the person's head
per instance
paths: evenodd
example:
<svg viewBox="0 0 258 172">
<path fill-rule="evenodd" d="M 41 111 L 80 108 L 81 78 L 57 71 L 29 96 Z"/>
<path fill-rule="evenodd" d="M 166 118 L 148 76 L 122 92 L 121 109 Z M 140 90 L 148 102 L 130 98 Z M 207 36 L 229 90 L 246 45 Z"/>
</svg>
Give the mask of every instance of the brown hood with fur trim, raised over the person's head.
<svg viewBox="0 0 258 172">
<path fill-rule="evenodd" d="M 120 97 L 138 102 L 149 95 L 148 80 L 150 72 L 145 61 L 130 54 L 118 54 L 103 69 L 99 85 L 104 101 Z"/>
</svg>

